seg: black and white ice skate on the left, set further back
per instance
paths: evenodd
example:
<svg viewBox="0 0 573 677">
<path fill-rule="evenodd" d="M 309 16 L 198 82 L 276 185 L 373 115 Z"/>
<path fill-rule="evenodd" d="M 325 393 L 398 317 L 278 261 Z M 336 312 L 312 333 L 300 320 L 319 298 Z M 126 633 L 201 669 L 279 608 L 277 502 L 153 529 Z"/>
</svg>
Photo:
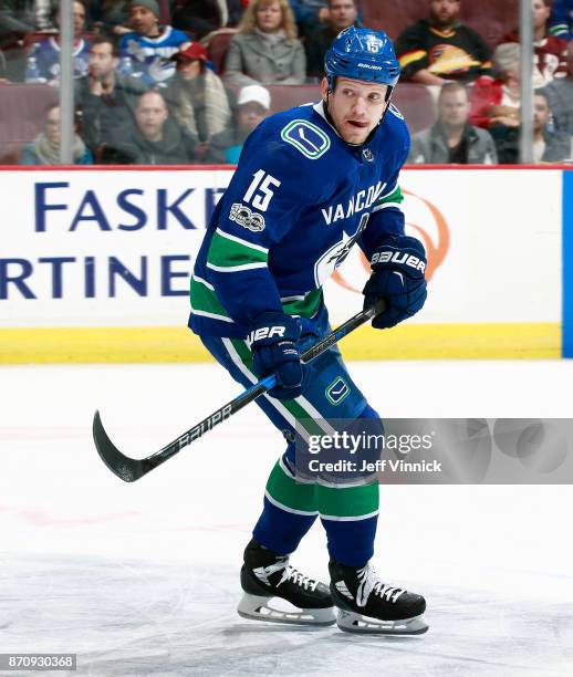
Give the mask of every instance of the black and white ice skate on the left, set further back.
<svg viewBox="0 0 573 677">
<path fill-rule="evenodd" d="M 336 622 L 327 586 L 293 569 L 288 555 L 267 550 L 254 540 L 244 550 L 241 586 L 244 594 L 237 611 L 243 618 L 298 625 Z M 284 611 L 286 605 L 273 602 L 273 597 L 295 608 Z"/>
</svg>

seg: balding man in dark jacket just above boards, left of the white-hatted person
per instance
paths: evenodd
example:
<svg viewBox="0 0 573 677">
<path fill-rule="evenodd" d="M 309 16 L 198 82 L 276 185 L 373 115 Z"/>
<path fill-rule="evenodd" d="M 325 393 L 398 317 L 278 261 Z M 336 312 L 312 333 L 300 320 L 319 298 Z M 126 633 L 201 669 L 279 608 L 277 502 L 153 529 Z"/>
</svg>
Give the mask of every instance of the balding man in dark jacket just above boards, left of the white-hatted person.
<svg viewBox="0 0 573 677">
<path fill-rule="evenodd" d="M 135 126 L 118 128 L 102 162 L 122 165 L 185 165 L 191 162 L 196 139 L 169 117 L 159 92 L 146 92 L 135 108 Z"/>
</svg>

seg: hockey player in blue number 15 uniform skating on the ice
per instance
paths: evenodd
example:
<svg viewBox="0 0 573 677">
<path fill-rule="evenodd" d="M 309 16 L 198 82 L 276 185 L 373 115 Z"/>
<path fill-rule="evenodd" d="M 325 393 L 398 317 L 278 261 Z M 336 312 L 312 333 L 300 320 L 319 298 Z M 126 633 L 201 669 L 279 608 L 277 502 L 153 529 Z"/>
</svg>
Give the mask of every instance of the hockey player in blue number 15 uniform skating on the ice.
<svg viewBox="0 0 573 677">
<path fill-rule="evenodd" d="M 383 583 L 369 564 L 377 483 L 295 479 L 296 424 L 308 437 L 305 426 L 319 420 L 378 420 L 336 347 L 301 363 L 329 332 L 324 280 L 357 243 L 372 265 L 365 306 L 386 301 L 373 326 L 394 326 L 426 300 L 424 247 L 405 235 L 400 210 L 409 137 L 389 103 L 399 76 L 392 43 L 351 27 L 326 53 L 325 74 L 319 104 L 268 117 L 247 139 L 195 264 L 189 326 L 242 385 L 277 375 L 258 403 L 289 442 L 244 551 L 239 614 L 329 625 L 337 606 L 342 629 L 419 634 L 428 627 L 424 597 Z M 330 589 L 289 564 L 316 517 L 327 535 Z M 273 596 L 300 611 L 273 607 Z"/>
</svg>

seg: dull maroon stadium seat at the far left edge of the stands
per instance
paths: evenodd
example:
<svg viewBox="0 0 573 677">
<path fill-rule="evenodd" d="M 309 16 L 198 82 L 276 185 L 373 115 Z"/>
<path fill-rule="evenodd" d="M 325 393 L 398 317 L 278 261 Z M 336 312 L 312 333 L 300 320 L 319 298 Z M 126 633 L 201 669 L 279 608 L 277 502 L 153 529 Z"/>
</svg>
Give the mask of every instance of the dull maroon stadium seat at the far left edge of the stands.
<svg viewBox="0 0 573 677">
<path fill-rule="evenodd" d="M 58 92 L 42 84 L 0 84 L 0 164 L 15 165 L 24 144 L 42 131 Z"/>
</svg>

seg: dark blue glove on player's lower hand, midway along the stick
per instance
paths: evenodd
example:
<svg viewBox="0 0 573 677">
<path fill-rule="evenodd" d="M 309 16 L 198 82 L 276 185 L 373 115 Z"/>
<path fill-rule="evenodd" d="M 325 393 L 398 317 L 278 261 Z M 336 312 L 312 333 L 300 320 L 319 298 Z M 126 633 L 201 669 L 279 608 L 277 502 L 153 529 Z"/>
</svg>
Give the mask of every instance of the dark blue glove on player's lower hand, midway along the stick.
<svg viewBox="0 0 573 677">
<path fill-rule="evenodd" d="M 249 333 L 254 373 L 259 378 L 277 375 L 269 395 L 278 399 L 293 399 L 303 390 L 303 364 L 296 347 L 300 335 L 299 322 L 279 312 L 259 315 Z"/>
</svg>

